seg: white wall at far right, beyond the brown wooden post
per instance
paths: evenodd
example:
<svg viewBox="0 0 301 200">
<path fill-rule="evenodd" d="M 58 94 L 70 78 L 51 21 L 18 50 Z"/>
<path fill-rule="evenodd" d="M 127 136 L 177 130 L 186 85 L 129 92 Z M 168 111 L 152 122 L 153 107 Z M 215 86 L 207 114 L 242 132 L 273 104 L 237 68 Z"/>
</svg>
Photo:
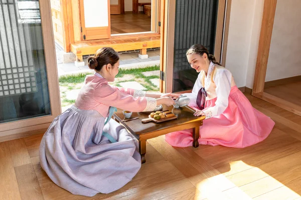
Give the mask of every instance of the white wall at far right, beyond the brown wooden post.
<svg viewBox="0 0 301 200">
<path fill-rule="evenodd" d="M 300 0 L 277 0 L 265 81 L 301 75 L 300 10 Z"/>
</svg>

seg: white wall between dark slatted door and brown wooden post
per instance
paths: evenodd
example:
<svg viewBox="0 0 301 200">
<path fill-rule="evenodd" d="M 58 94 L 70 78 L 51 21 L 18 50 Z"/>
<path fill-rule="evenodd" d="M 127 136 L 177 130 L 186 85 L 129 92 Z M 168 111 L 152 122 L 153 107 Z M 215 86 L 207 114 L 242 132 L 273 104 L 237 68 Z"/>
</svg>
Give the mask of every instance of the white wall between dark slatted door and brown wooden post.
<svg viewBox="0 0 301 200">
<path fill-rule="evenodd" d="M 232 0 L 226 68 L 238 87 L 253 87 L 263 0 Z"/>
</svg>

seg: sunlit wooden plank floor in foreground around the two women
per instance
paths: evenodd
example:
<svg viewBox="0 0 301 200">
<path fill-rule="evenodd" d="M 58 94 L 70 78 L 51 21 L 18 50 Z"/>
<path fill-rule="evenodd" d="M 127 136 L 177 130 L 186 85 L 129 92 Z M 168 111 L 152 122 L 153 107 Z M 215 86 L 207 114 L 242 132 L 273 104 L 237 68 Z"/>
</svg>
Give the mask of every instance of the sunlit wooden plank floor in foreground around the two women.
<svg viewBox="0 0 301 200">
<path fill-rule="evenodd" d="M 39 164 L 42 135 L 0 143 L 0 199 L 301 199 L 301 116 L 246 94 L 276 125 L 246 148 L 147 143 L 146 163 L 124 187 L 93 198 L 55 185 Z"/>
</svg>

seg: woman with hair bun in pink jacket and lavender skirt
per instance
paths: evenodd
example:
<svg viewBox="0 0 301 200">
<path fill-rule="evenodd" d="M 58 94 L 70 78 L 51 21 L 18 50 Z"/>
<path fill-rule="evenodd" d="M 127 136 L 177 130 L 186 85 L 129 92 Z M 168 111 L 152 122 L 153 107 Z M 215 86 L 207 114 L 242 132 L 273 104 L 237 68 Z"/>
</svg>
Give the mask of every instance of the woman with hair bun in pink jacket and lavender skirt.
<svg viewBox="0 0 301 200">
<path fill-rule="evenodd" d="M 40 163 L 48 176 L 73 194 L 94 196 L 115 191 L 130 181 L 141 166 L 138 141 L 110 120 L 116 107 L 153 111 L 170 106 L 178 94 L 148 93 L 114 87 L 119 55 L 103 47 L 88 58 L 95 70 L 87 75 L 75 105 L 57 116 L 40 145 Z"/>
</svg>

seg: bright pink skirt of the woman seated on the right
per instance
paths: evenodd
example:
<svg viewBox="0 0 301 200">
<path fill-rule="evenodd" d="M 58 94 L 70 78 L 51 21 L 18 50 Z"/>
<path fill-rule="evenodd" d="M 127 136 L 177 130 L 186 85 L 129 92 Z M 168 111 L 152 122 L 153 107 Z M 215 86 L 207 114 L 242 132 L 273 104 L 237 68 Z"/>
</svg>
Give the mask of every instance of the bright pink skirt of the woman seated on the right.
<svg viewBox="0 0 301 200">
<path fill-rule="evenodd" d="M 216 99 L 207 100 L 205 109 L 214 106 Z M 255 109 L 238 87 L 233 86 L 226 110 L 218 116 L 204 119 L 199 143 L 243 148 L 265 139 L 274 125 L 270 117 Z M 191 146 L 192 129 L 168 133 L 166 141 L 172 146 Z"/>
</svg>

